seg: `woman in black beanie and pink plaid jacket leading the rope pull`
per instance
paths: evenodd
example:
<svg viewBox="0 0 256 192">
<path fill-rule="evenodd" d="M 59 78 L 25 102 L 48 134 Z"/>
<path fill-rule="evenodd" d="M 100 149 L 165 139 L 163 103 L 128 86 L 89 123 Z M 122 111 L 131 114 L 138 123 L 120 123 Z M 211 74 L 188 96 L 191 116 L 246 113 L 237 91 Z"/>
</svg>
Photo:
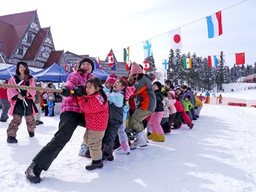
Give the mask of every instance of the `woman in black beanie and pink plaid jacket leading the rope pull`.
<svg viewBox="0 0 256 192">
<path fill-rule="evenodd" d="M 68 143 L 76 130 L 77 125 L 85 126 L 84 113 L 77 103 L 76 96 L 83 95 L 87 79 L 92 78 L 94 62 L 90 58 L 84 58 L 79 62 L 76 72 L 72 72 L 62 88 L 64 98 L 61 103 L 61 115 L 59 130 L 54 138 L 35 156 L 25 174 L 31 182 L 41 181 L 42 170 L 47 171 L 52 161 L 58 156 L 63 147 Z M 71 95 L 70 90 L 74 90 Z"/>
</svg>

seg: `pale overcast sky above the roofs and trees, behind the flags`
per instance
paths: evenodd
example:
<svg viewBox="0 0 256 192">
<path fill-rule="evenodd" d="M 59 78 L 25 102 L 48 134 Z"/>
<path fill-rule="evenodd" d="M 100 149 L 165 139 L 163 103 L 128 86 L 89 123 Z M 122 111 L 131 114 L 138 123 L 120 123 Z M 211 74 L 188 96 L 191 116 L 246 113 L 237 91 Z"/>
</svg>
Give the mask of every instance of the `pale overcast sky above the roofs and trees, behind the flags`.
<svg viewBox="0 0 256 192">
<path fill-rule="evenodd" d="M 4 1 L 0 15 L 37 9 L 42 28 L 51 26 L 56 50 L 100 56 L 104 60 L 112 48 L 123 61 L 123 48 L 129 45 L 130 59 L 144 59 L 143 40 L 171 31 L 239 3 L 243 0 L 93 0 L 93 1 Z M 206 19 L 181 28 L 182 52 L 198 56 L 224 51 L 227 65 L 235 62 L 235 52 L 246 53 L 246 63 L 256 61 L 256 1 L 223 10 L 223 35 L 209 39 Z M 167 33 L 152 38 L 157 67 L 168 59 L 172 48 Z M 119 51 L 117 51 L 119 50 Z"/>
</svg>

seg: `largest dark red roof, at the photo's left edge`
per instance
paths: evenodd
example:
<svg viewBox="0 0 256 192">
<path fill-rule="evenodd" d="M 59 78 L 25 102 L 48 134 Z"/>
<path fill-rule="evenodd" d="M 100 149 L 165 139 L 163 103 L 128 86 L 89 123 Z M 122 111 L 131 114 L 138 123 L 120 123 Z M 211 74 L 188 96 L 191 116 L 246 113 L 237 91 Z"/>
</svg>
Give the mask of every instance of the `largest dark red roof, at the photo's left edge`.
<svg viewBox="0 0 256 192">
<path fill-rule="evenodd" d="M 0 16 L 0 39 L 7 58 L 10 58 L 36 11 Z"/>
</svg>

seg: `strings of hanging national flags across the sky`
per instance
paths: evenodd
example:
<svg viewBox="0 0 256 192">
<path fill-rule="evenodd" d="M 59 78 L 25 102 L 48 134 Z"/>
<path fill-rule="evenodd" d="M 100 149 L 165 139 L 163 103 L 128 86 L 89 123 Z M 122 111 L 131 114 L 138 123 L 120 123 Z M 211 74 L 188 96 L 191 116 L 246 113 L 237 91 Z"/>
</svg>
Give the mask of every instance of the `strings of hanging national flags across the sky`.
<svg viewBox="0 0 256 192">
<path fill-rule="evenodd" d="M 248 0 L 244 0 L 237 4 L 244 3 L 245 1 L 248 1 Z M 234 4 L 228 8 L 236 6 L 237 4 Z M 223 10 L 227 10 L 228 8 L 225 8 Z M 221 10 L 219 12 L 216 12 L 207 17 L 203 17 L 202 19 L 206 20 L 208 38 L 216 38 L 218 36 L 223 35 Z M 198 20 L 201 20 L 201 19 L 198 19 Z M 198 20 L 196 20 L 194 22 L 197 22 Z M 192 23 L 193 22 L 190 22 L 189 24 L 192 24 Z M 184 26 L 187 26 L 187 25 L 188 24 L 186 24 Z M 184 27 L 184 26 L 182 26 L 182 27 Z M 181 31 L 180 31 L 180 28 L 182 28 L 182 27 L 179 27 L 177 29 L 173 29 L 172 31 L 167 32 L 168 37 L 170 38 L 170 41 L 172 44 L 172 49 L 182 48 L 182 35 L 181 35 Z M 163 34 L 161 34 L 161 35 L 163 35 Z M 159 36 L 159 35 L 157 35 L 157 36 Z M 152 38 L 155 38 L 155 37 L 152 37 Z M 152 56 L 152 43 L 151 43 L 152 38 L 149 38 L 148 40 L 145 40 L 142 42 L 144 58 L 148 58 L 148 57 Z M 137 45 L 137 44 L 134 44 L 134 45 Z M 131 70 L 132 62 L 130 60 L 130 47 L 126 47 L 123 49 L 124 50 L 124 62 L 126 63 L 126 66 L 125 66 L 126 70 Z M 97 62 L 99 63 L 98 65 L 100 67 L 100 60 L 97 60 Z M 216 56 L 208 56 L 208 63 L 209 63 L 209 67 L 217 67 L 217 65 L 218 65 L 217 57 Z M 236 65 L 243 65 L 244 63 L 245 63 L 244 52 L 236 53 Z M 183 64 L 184 64 L 184 68 L 191 68 L 192 67 L 191 58 L 184 58 Z M 116 63 L 113 59 L 113 52 L 109 52 L 109 54 L 108 54 L 108 65 L 109 65 L 109 67 L 111 67 L 111 70 L 116 69 Z M 149 70 L 149 62 L 148 61 L 143 61 L 143 65 L 144 65 L 145 70 Z M 166 70 L 168 68 L 168 60 L 163 60 L 162 65 L 164 65 L 164 69 Z"/>
</svg>

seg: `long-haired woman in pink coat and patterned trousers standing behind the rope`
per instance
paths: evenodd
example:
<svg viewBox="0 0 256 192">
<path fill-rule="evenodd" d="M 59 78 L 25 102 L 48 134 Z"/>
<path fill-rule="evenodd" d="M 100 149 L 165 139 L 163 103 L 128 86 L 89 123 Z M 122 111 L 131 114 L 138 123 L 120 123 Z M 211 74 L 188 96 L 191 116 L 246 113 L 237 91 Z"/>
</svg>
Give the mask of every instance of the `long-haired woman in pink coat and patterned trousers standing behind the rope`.
<svg viewBox="0 0 256 192">
<path fill-rule="evenodd" d="M 25 61 L 19 61 L 17 63 L 15 76 L 9 79 L 8 84 L 18 84 L 23 86 L 35 86 L 35 80 L 33 76 L 29 75 L 28 65 Z M 9 114 L 13 116 L 12 121 L 8 125 L 7 129 L 7 142 L 18 143 L 16 139 L 16 133 L 19 129 L 19 125 L 22 122 L 22 116 L 25 116 L 29 137 L 35 136 L 35 118 L 33 115 L 38 113 L 33 98 L 35 97 L 35 90 L 18 90 L 8 89 L 8 100 L 11 104 Z M 26 106 L 25 104 L 28 104 Z"/>
</svg>

